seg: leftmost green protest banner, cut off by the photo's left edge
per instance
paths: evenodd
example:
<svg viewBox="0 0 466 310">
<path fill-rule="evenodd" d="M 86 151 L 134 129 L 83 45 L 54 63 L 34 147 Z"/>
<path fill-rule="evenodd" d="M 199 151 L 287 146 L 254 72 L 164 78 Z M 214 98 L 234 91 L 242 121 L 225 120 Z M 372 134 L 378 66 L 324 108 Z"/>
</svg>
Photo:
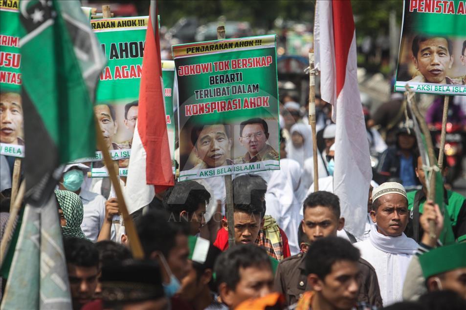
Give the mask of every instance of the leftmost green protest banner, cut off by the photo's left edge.
<svg viewBox="0 0 466 310">
<path fill-rule="evenodd" d="M 24 157 L 19 0 L 0 1 L 0 154 Z"/>
</svg>

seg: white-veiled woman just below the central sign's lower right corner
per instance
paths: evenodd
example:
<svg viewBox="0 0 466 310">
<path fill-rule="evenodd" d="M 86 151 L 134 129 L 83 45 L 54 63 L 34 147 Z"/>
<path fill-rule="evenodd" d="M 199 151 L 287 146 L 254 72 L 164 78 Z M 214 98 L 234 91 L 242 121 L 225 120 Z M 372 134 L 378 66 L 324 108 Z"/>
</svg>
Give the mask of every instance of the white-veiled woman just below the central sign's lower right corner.
<svg viewBox="0 0 466 310">
<path fill-rule="evenodd" d="M 302 186 L 302 168 L 288 158 L 280 160 L 280 170 L 273 170 L 267 182 L 266 213 L 271 215 L 288 236 L 291 255 L 299 252 L 298 228 L 303 219 L 299 210 L 306 189 Z"/>
</svg>

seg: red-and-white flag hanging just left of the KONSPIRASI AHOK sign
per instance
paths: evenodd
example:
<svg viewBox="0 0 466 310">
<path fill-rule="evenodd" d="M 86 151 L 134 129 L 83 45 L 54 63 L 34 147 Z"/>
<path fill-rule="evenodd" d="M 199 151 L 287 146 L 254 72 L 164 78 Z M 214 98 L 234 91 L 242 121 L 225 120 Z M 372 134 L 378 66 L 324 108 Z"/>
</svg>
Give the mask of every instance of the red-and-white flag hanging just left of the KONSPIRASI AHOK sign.
<svg viewBox="0 0 466 310">
<path fill-rule="evenodd" d="M 125 188 L 129 213 L 149 205 L 155 192 L 174 185 L 162 93 L 162 64 L 155 2 L 151 1 L 146 31 L 137 125 Z"/>
</svg>

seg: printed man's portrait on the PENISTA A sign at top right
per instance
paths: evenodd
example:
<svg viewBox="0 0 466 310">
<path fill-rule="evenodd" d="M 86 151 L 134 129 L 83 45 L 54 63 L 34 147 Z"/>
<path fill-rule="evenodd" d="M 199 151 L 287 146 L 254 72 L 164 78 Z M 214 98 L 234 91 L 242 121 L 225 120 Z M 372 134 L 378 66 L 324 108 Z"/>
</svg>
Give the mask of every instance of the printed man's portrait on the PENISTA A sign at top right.
<svg viewBox="0 0 466 310">
<path fill-rule="evenodd" d="M 420 74 L 409 82 L 454 84 L 446 76 L 453 65 L 452 44 L 446 37 L 426 37 L 418 35 L 411 46 L 412 60 Z"/>
</svg>

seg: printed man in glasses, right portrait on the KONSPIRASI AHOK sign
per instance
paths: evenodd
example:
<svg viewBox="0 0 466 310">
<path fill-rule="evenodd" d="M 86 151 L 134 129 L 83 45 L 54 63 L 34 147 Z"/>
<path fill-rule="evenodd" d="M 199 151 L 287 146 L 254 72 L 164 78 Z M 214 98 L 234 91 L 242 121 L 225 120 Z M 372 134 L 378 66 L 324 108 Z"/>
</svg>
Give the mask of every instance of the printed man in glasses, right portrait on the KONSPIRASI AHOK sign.
<svg viewBox="0 0 466 310">
<path fill-rule="evenodd" d="M 266 160 L 278 161 L 276 150 L 267 144 L 268 125 L 261 118 L 252 118 L 240 124 L 240 143 L 247 150 L 243 157 L 237 159 L 240 163 L 255 163 Z"/>
</svg>

